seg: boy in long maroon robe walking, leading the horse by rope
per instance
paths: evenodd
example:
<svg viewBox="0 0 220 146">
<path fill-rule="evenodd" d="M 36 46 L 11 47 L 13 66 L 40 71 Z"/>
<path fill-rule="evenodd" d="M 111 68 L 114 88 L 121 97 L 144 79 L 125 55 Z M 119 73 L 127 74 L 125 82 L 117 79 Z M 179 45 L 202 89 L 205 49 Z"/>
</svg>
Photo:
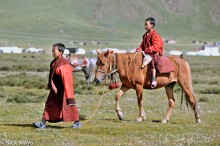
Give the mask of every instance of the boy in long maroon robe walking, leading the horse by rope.
<svg viewBox="0 0 220 146">
<path fill-rule="evenodd" d="M 36 128 L 46 128 L 46 122 L 72 122 L 72 128 L 79 128 L 79 113 L 76 107 L 73 90 L 73 67 L 63 58 L 65 46 L 53 45 L 54 60 L 50 63 L 48 89 L 50 93 L 45 103 L 42 121 L 33 123 Z"/>
</svg>

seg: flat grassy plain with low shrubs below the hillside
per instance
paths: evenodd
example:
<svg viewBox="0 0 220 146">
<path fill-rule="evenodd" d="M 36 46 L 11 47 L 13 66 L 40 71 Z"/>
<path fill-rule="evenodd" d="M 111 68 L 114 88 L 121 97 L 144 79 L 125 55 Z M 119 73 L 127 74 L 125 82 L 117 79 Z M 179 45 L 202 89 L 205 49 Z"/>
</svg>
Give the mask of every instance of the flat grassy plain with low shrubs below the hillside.
<svg viewBox="0 0 220 146">
<path fill-rule="evenodd" d="M 147 119 L 137 123 L 135 92 L 121 99 L 125 121 L 119 121 L 114 110 L 118 90 L 106 90 L 95 116 L 87 123 L 101 99 L 103 86 L 86 87 L 82 73 L 74 73 L 75 96 L 83 126 L 71 129 L 72 123 L 48 123 L 44 130 L 34 129 L 32 122 L 42 116 L 48 91 L 48 54 L 1 54 L 0 61 L 0 145 L 220 145 L 220 58 L 187 57 L 193 86 L 199 101 L 201 124 L 195 124 L 192 110 L 180 104 L 180 89 L 175 87 L 176 106 L 169 124 L 161 124 L 168 106 L 164 89 L 144 91 Z M 14 58 L 12 60 L 7 58 Z M 17 59 L 15 59 L 17 58 Z M 16 60 L 16 61 L 14 61 Z M 28 63 L 27 63 L 28 62 Z M 39 62 L 39 64 L 35 64 Z M 14 66 L 21 67 L 15 71 Z M 34 64 L 34 68 L 25 64 Z M 41 66 L 43 65 L 43 66 Z M 3 70 L 2 66 L 9 66 Z M 20 70 L 19 70 L 20 69 Z"/>
</svg>

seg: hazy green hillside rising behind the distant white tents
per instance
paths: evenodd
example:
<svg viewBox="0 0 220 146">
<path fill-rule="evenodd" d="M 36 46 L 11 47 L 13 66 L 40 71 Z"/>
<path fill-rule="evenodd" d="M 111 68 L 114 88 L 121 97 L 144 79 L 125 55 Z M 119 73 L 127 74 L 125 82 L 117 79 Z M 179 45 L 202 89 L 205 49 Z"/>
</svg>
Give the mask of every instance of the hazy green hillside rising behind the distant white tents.
<svg viewBox="0 0 220 146">
<path fill-rule="evenodd" d="M 137 46 L 149 17 L 180 43 L 220 40 L 220 1 L 0 0 L 0 45 L 48 46 L 80 41 Z"/>
</svg>

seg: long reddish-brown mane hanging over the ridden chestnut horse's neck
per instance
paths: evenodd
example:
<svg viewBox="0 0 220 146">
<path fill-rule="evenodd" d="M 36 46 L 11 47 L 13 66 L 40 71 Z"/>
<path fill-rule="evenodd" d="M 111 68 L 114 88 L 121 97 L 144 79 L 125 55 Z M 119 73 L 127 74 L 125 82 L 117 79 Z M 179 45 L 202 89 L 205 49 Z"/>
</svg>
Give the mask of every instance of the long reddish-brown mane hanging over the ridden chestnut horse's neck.
<svg viewBox="0 0 220 146">
<path fill-rule="evenodd" d="M 141 69 L 142 54 L 136 53 L 117 53 L 116 62 L 119 74 L 122 77 L 132 78 Z"/>
</svg>

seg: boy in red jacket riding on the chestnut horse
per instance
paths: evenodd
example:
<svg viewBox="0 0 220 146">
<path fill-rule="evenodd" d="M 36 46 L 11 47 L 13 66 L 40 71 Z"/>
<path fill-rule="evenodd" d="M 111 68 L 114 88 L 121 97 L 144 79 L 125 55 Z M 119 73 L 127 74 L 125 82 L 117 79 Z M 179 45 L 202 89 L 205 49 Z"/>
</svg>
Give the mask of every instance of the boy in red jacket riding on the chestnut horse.
<svg viewBox="0 0 220 146">
<path fill-rule="evenodd" d="M 154 88 L 157 85 L 156 62 L 157 58 L 163 55 L 163 40 L 160 35 L 155 31 L 155 25 L 156 21 L 154 18 L 150 17 L 145 20 L 144 27 L 147 32 L 143 35 L 143 41 L 141 42 L 141 45 L 136 49 L 136 51 L 143 51 L 144 58 L 141 68 L 144 68 L 148 64 L 145 54 L 152 57 L 152 60 L 150 62 L 152 73 L 151 88 Z"/>
</svg>

